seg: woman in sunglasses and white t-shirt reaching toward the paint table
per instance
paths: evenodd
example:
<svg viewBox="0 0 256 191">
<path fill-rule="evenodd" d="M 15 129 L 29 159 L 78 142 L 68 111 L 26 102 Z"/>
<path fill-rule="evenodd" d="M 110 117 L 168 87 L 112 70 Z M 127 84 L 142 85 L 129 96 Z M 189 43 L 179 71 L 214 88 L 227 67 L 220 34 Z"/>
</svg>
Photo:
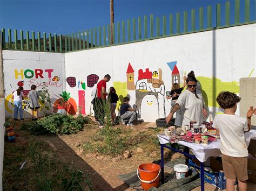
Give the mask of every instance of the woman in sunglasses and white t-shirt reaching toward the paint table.
<svg viewBox="0 0 256 191">
<path fill-rule="evenodd" d="M 166 117 L 165 121 L 167 124 L 178 109 L 181 109 L 184 114 L 182 126 L 189 125 L 191 121 L 197 121 L 197 123 L 201 124 L 203 117 L 207 117 L 204 98 L 201 92 L 196 90 L 197 82 L 196 77 L 187 78 L 187 89 L 180 94 L 170 114 Z"/>
</svg>

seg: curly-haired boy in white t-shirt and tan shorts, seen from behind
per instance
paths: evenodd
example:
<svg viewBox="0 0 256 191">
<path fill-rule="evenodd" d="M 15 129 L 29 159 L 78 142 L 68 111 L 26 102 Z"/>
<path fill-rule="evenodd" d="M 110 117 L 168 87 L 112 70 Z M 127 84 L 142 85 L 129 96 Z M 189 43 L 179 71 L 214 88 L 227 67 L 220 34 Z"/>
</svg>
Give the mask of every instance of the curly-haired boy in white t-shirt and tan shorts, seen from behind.
<svg viewBox="0 0 256 191">
<path fill-rule="evenodd" d="M 246 118 L 235 115 L 237 103 L 240 100 L 241 98 L 234 93 L 221 92 L 217 97 L 217 102 L 225 112 L 223 115 L 215 116 L 212 125 L 220 135 L 220 152 L 227 179 L 227 191 L 234 190 L 236 178 L 239 190 L 247 189 L 248 150 L 244 132 L 251 130 L 251 117 L 256 109 L 253 110 L 251 107 L 247 111 Z"/>
</svg>

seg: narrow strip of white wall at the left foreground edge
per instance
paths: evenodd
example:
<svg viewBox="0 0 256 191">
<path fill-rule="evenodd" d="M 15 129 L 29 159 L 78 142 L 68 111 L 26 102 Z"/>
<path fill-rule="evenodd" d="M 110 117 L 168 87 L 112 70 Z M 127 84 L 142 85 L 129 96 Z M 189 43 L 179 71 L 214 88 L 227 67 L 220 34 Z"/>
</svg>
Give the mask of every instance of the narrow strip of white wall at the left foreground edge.
<svg viewBox="0 0 256 191">
<path fill-rule="evenodd" d="M 3 190 L 3 160 L 4 160 L 4 98 L 0 98 L 0 191 Z"/>
</svg>

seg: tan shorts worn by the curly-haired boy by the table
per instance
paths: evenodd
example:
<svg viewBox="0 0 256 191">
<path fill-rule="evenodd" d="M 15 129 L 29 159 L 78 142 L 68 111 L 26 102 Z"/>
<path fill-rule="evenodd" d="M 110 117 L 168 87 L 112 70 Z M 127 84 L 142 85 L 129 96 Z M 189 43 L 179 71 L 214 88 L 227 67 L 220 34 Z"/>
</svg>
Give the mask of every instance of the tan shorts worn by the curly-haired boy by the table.
<svg viewBox="0 0 256 191">
<path fill-rule="evenodd" d="M 227 179 L 234 180 L 236 177 L 240 181 L 248 179 L 247 157 L 231 157 L 221 155 L 224 173 Z"/>
</svg>

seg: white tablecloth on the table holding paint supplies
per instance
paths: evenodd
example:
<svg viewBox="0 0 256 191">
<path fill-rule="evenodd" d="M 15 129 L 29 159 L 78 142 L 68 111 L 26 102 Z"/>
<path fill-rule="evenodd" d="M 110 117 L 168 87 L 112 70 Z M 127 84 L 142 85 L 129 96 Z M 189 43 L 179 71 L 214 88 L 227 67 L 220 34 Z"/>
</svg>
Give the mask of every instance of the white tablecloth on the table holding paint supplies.
<svg viewBox="0 0 256 191">
<path fill-rule="evenodd" d="M 158 134 L 157 137 L 160 144 L 170 143 L 169 137 L 165 136 L 164 134 Z M 247 147 L 250 144 L 251 139 L 256 139 L 255 129 L 245 133 L 245 141 Z M 208 157 L 218 157 L 221 155 L 220 139 L 218 139 L 217 142 L 209 142 L 208 145 L 197 145 L 195 143 L 184 142 L 183 140 L 180 140 L 178 144 L 189 147 L 200 162 L 205 162 Z"/>
</svg>

